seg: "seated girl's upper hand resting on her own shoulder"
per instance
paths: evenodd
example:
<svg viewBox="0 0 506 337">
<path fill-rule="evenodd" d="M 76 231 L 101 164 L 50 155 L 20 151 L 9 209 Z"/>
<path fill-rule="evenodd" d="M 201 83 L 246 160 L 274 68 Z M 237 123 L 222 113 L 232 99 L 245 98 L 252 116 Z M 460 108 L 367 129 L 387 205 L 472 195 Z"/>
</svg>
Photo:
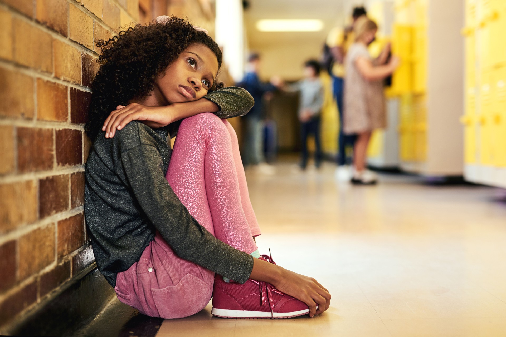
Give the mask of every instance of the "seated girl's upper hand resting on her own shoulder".
<svg viewBox="0 0 506 337">
<path fill-rule="evenodd" d="M 114 137 L 116 130 L 121 130 L 131 121 L 143 121 L 149 127 L 159 128 L 174 122 L 172 106 L 149 107 L 137 103 L 131 103 L 124 107 L 119 105 L 117 110 L 111 112 L 104 122 L 102 131 L 105 131 L 106 138 Z"/>
</svg>

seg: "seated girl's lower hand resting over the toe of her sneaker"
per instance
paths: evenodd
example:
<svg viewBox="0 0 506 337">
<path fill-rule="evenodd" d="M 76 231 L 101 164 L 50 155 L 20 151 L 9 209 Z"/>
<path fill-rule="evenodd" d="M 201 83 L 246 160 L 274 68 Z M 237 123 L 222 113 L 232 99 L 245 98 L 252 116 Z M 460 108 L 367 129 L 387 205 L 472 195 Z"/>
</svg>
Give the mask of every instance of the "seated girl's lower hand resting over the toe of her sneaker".
<svg viewBox="0 0 506 337">
<path fill-rule="evenodd" d="M 283 268 L 281 279 L 271 284 L 279 291 L 306 303 L 310 317 L 319 315 L 330 307 L 330 293 L 312 277 Z"/>
</svg>

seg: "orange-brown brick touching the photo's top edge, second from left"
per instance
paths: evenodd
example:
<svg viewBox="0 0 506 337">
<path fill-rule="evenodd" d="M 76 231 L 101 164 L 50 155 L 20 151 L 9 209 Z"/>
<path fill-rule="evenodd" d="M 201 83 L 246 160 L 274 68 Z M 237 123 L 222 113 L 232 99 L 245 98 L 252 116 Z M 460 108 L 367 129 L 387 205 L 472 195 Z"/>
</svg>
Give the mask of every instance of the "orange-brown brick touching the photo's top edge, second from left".
<svg viewBox="0 0 506 337">
<path fill-rule="evenodd" d="M 68 1 L 67 0 L 37 0 L 35 18 L 38 22 L 67 36 L 68 29 Z"/>
</svg>

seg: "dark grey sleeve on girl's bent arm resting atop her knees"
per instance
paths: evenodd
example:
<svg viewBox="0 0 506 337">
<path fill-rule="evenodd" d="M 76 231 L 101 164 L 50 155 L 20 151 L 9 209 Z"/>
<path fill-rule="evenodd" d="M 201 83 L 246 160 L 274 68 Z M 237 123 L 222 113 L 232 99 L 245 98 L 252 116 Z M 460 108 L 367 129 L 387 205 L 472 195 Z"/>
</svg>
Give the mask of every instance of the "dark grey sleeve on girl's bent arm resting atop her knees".
<svg viewBox="0 0 506 337">
<path fill-rule="evenodd" d="M 226 88 L 209 92 L 203 98 L 213 102 L 220 108 L 215 115 L 222 119 L 244 116 L 255 104 L 255 100 L 249 92 L 237 86 L 227 86 Z M 179 125 L 181 125 L 181 120 L 168 125 L 168 132 L 171 138 L 176 136 Z"/>
</svg>

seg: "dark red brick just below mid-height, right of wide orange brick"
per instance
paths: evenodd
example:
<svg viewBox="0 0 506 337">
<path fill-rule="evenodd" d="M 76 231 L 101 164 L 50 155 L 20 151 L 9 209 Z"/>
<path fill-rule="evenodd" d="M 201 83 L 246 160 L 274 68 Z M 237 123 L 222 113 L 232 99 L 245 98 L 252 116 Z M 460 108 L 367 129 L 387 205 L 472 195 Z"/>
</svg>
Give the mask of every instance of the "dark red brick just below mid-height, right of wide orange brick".
<svg viewBox="0 0 506 337">
<path fill-rule="evenodd" d="M 69 208 L 69 175 L 55 175 L 39 180 L 39 217 L 45 218 Z"/>
</svg>

